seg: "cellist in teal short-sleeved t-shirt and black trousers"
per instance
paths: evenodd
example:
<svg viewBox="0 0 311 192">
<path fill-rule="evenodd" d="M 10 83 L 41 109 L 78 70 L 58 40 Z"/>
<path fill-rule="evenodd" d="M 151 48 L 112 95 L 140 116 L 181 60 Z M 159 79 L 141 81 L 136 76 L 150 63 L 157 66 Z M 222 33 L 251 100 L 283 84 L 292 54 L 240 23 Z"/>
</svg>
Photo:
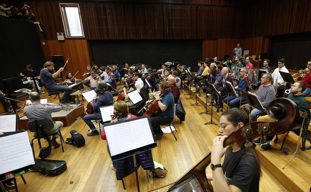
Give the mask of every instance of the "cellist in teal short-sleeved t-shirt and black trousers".
<svg viewBox="0 0 311 192">
<path fill-rule="evenodd" d="M 165 89 L 169 88 L 169 84 L 166 81 L 161 81 L 159 87 L 160 91 L 163 92 Z M 158 102 L 159 110 L 151 115 L 150 120 L 154 134 L 156 134 L 156 140 L 159 140 L 163 136 L 163 131 L 160 129 L 160 125 L 168 124 L 174 119 L 174 117 L 172 117 L 174 109 L 174 96 L 171 91 L 166 91 L 162 98 L 160 98 L 159 95 L 156 95 L 154 102 Z M 151 103 L 151 101 L 146 101 L 146 104 L 149 103 Z"/>
</svg>

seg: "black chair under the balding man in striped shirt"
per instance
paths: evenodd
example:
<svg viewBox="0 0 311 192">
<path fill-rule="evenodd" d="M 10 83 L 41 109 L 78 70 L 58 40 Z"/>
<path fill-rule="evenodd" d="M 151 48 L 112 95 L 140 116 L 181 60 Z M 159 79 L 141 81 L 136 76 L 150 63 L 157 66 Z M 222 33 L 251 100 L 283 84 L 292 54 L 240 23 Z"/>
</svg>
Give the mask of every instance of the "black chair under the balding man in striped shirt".
<svg viewBox="0 0 311 192">
<path fill-rule="evenodd" d="M 49 139 L 49 136 L 52 136 L 54 134 L 58 134 L 59 135 L 59 138 L 60 138 L 60 143 L 62 145 L 62 150 L 64 152 L 64 147 L 63 147 L 63 143 L 65 143 L 64 141 L 64 138 L 62 136 L 62 133 L 60 132 L 59 129 L 56 129 L 55 131 L 53 132 L 50 132 L 50 133 L 45 133 L 46 130 L 49 130 L 49 129 L 53 129 L 54 128 L 54 122 L 52 121 L 52 119 L 40 119 L 40 120 L 35 120 L 35 121 L 29 121 L 27 123 L 27 127 L 28 129 L 31 131 L 31 132 L 34 132 L 36 133 L 36 137 L 34 136 L 34 138 L 31 140 L 31 148 L 32 148 L 32 153 L 35 157 L 35 149 L 34 149 L 34 143 L 33 141 L 35 139 L 38 140 L 38 144 L 39 144 L 39 148 L 41 149 L 41 142 L 40 142 L 40 139 L 41 138 L 44 138 L 44 139 L 47 139 L 48 142 L 50 143 L 50 139 Z M 41 133 L 38 134 L 38 131 L 40 131 Z M 62 143 L 63 141 L 63 143 Z"/>
</svg>

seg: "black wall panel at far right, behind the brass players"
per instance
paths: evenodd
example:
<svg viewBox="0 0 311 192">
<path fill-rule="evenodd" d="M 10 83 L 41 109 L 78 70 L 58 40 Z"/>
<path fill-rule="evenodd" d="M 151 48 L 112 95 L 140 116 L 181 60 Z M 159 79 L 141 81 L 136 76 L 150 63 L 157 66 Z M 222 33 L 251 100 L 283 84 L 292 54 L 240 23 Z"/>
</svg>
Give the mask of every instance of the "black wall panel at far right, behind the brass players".
<svg viewBox="0 0 311 192">
<path fill-rule="evenodd" d="M 271 54 L 271 67 L 284 58 L 287 69 L 305 69 L 311 59 L 311 32 L 272 36 Z"/>
</svg>

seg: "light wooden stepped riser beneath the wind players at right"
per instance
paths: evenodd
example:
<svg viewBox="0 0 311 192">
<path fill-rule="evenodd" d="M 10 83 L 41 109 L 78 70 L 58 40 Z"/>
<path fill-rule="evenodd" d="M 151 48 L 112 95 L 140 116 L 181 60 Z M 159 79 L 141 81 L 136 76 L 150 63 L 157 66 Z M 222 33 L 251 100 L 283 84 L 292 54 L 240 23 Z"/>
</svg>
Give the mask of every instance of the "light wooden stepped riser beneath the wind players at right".
<svg viewBox="0 0 311 192">
<path fill-rule="evenodd" d="M 186 91 L 188 87 L 186 86 Z M 186 91 L 182 91 L 181 94 L 185 94 Z M 191 91 L 192 97 L 195 103 L 196 94 Z M 201 97 L 197 96 L 197 103 L 205 107 L 206 93 L 201 91 Z M 208 101 L 211 101 L 209 98 Z M 209 104 L 209 103 L 208 103 Z M 223 110 L 227 109 L 227 105 L 224 104 Z M 207 105 L 207 111 L 211 112 L 211 106 Z M 202 114 L 203 115 L 203 114 Z M 213 107 L 213 119 L 219 122 L 221 112 L 217 113 L 216 108 Z M 207 119 L 210 118 L 208 115 Z M 290 132 L 284 144 L 284 147 L 290 149 L 290 152 L 294 152 L 298 142 L 298 136 Z M 310 145 L 310 141 L 306 142 L 306 146 Z M 311 150 L 301 151 L 301 140 L 299 142 L 299 154 L 295 157 L 284 169 L 285 164 L 290 160 L 292 155 L 286 154 L 280 151 L 281 144 L 278 144 L 273 150 L 262 150 L 260 145 L 256 146 L 261 165 L 271 173 L 288 191 L 309 191 L 311 186 Z"/>
</svg>

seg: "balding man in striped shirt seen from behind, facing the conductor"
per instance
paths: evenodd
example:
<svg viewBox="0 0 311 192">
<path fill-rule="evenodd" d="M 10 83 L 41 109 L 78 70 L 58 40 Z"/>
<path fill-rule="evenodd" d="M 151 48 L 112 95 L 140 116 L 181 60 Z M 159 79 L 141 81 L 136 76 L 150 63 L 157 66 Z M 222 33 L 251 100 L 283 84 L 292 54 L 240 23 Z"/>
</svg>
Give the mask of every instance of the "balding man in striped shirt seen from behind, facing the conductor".
<svg viewBox="0 0 311 192">
<path fill-rule="evenodd" d="M 40 119 L 52 119 L 52 112 L 58 112 L 62 110 L 60 105 L 54 103 L 40 103 L 41 96 L 37 92 L 31 92 L 29 94 L 29 99 L 31 101 L 31 105 L 26 106 L 24 108 L 24 114 L 28 118 L 29 121 L 40 120 Z M 51 133 L 55 130 L 62 130 L 63 122 L 55 121 L 54 127 L 52 129 L 46 130 L 45 133 Z M 41 132 L 39 131 L 39 134 Z M 36 133 L 34 132 L 34 137 L 36 137 Z M 54 134 L 50 144 L 54 147 L 59 147 L 60 144 L 57 143 L 56 138 L 59 138 L 58 134 Z"/>
</svg>

